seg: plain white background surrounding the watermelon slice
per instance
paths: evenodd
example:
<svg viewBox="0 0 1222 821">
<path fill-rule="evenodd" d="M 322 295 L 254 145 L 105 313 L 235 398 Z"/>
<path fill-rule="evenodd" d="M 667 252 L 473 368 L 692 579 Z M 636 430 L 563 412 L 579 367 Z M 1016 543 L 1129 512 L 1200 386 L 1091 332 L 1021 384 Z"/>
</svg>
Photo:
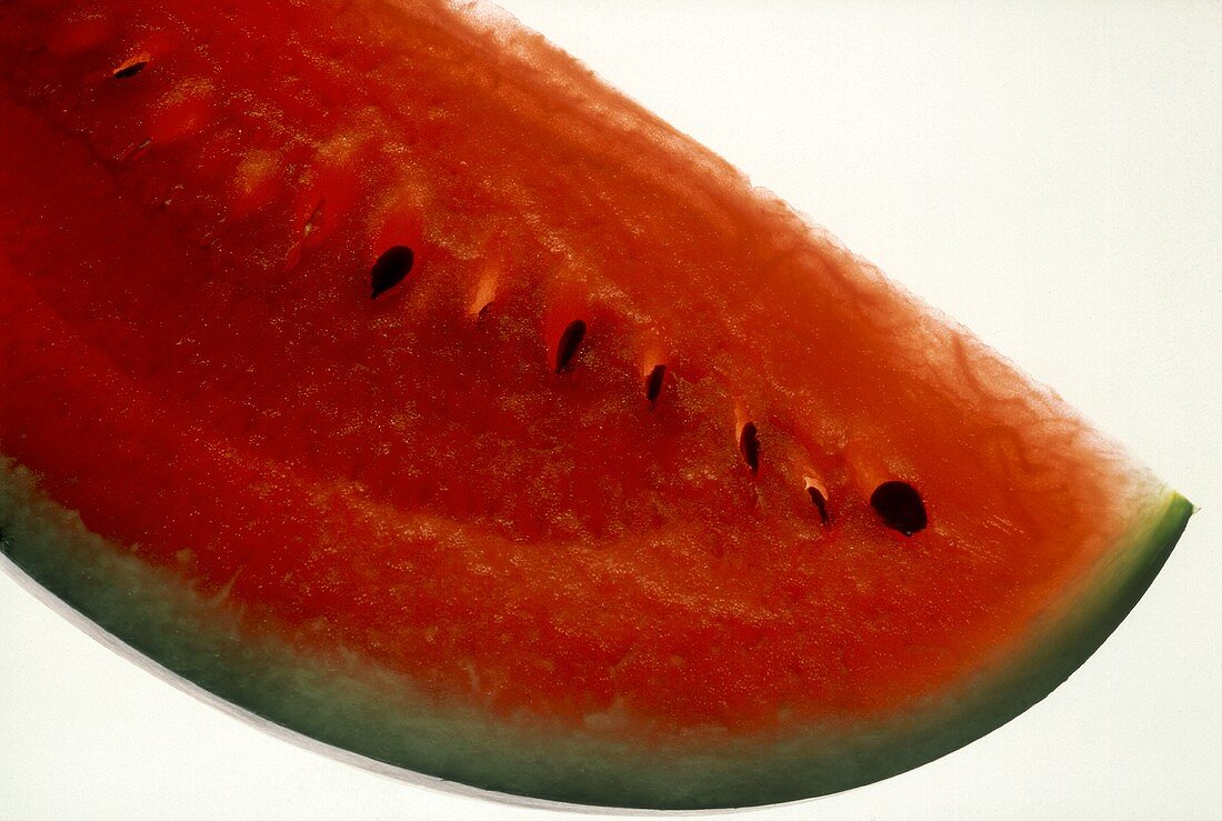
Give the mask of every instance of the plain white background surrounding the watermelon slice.
<svg viewBox="0 0 1222 821">
<path fill-rule="evenodd" d="M 1048 699 L 759 819 L 1222 816 L 1222 5 L 510 0 L 1204 509 Z M 0 577 L 0 817 L 561 819 L 298 749 Z"/>
</svg>

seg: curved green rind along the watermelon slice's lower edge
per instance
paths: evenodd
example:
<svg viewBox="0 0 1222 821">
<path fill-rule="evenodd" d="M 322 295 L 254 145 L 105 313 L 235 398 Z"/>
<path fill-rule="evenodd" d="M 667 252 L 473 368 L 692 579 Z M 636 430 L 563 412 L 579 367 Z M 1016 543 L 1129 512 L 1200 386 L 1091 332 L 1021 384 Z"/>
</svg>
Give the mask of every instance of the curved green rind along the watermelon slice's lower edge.
<svg viewBox="0 0 1222 821">
<path fill-rule="evenodd" d="M 79 517 L 46 498 L 28 472 L 2 458 L 0 551 L 109 637 L 186 679 L 187 689 L 202 688 L 301 733 L 299 743 L 314 739 L 357 754 L 341 757 L 367 766 L 423 773 L 418 783 L 453 781 L 458 789 L 505 793 L 511 801 L 706 809 L 868 784 L 959 749 L 1040 701 L 1133 608 L 1194 511 L 1173 491 L 1151 498 L 1125 544 L 1079 588 L 1084 593 L 1062 602 L 1007 663 L 956 693 L 870 726 L 711 745 L 643 745 L 538 720 L 491 720 L 473 707 L 430 702 L 401 677 L 354 656 L 323 661 L 257 637 L 231 607 L 186 590 L 169 571 L 87 530 Z"/>
</svg>

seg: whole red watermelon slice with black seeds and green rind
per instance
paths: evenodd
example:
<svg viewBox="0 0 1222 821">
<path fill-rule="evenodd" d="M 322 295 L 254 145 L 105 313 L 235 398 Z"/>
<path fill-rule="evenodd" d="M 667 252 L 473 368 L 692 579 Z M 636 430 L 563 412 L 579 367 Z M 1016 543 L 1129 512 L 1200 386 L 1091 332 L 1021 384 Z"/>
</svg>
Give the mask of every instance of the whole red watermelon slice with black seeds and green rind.
<svg viewBox="0 0 1222 821">
<path fill-rule="evenodd" d="M 0 15 L 0 545 L 271 721 L 829 793 L 1046 695 L 1191 512 L 488 6 Z"/>
</svg>

